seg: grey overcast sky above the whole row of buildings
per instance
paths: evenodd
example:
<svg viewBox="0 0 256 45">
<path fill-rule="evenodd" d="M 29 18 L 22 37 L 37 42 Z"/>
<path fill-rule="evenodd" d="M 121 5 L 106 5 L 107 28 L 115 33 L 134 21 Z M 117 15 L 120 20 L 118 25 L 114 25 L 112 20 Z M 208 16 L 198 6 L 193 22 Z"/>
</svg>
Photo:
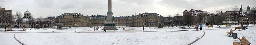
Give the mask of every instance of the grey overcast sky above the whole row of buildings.
<svg viewBox="0 0 256 45">
<path fill-rule="evenodd" d="M 158 13 L 164 17 L 182 14 L 187 9 L 209 11 L 231 11 L 233 5 L 243 10 L 247 5 L 256 6 L 256 0 L 112 0 L 112 12 L 114 16 L 130 16 L 138 13 Z M 30 11 L 36 18 L 59 16 L 63 13 L 82 13 L 83 15 L 107 15 L 108 0 L 0 0 L 0 7 L 24 13 Z"/>
</svg>

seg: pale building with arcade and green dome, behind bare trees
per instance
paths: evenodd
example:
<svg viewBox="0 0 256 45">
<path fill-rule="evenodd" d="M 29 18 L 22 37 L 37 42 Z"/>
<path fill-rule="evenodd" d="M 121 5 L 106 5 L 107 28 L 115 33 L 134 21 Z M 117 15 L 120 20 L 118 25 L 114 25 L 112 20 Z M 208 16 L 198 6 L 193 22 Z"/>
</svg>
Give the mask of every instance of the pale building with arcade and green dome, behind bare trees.
<svg viewBox="0 0 256 45">
<path fill-rule="evenodd" d="M 40 19 L 31 17 L 31 13 L 27 10 L 23 13 L 21 28 L 47 28 L 54 26 L 55 22 L 50 19 Z"/>
</svg>

